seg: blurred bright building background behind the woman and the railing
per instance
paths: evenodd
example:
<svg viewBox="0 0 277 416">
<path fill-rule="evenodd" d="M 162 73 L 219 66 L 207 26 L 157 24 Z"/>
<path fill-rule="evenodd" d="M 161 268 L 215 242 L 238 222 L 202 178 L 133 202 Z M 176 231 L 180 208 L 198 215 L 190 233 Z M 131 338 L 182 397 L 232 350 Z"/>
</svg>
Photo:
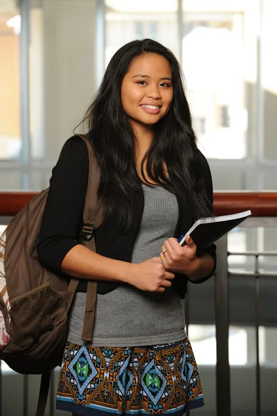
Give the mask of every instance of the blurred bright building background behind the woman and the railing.
<svg viewBox="0 0 277 416">
<path fill-rule="evenodd" d="M 215 191 L 276 190 L 276 15 L 277 0 L 0 0 L 0 189 L 48 187 L 62 144 L 96 94 L 111 56 L 131 40 L 150 37 L 171 49 L 184 70 Z M 276 225 L 240 227 L 229 234 L 228 248 L 274 251 L 276 235 Z M 261 259 L 261 265 L 276 271 L 276 257 Z M 231 257 L 229 266 L 236 272 L 255 267 L 243 255 Z M 260 415 L 268 416 L 277 415 L 276 279 L 262 285 Z M 231 282 L 234 416 L 254 415 L 255 409 L 254 295 L 250 278 Z M 206 399 L 195 416 L 215 415 L 213 302 L 213 279 L 191 289 L 189 336 Z M 2 372 L 8 394 L 15 374 L 5 365 Z M 36 389 L 30 381 L 28 416 L 35 414 Z M 12 403 L 14 413 L 6 404 L 2 399 L 3 415 L 21 415 L 19 401 Z"/>
</svg>

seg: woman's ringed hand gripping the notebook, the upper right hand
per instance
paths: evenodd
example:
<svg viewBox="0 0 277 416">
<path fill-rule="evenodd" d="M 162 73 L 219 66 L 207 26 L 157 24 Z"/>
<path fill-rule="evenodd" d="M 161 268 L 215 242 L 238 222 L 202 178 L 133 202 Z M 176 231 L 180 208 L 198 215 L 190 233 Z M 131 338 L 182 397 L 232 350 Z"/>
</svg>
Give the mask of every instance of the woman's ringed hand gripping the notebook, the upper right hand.
<svg viewBox="0 0 277 416">
<path fill-rule="evenodd" d="M 196 257 L 197 247 L 193 239 L 187 235 L 186 245 L 179 245 L 177 239 L 170 238 L 163 243 L 160 256 L 163 257 L 163 266 L 170 272 L 195 275 L 201 261 Z"/>
</svg>

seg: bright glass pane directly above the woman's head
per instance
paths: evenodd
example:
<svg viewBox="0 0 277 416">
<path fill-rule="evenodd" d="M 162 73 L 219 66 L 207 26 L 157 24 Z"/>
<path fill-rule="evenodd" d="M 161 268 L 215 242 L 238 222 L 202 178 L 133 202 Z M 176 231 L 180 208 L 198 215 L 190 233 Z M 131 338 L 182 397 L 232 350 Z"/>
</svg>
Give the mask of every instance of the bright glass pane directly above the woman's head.
<svg viewBox="0 0 277 416">
<path fill-rule="evenodd" d="M 178 55 L 177 0 L 106 0 L 105 65 L 127 42 L 150 37 Z M 115 36 L 116 33 L 116 36 Z"/>
</svg>

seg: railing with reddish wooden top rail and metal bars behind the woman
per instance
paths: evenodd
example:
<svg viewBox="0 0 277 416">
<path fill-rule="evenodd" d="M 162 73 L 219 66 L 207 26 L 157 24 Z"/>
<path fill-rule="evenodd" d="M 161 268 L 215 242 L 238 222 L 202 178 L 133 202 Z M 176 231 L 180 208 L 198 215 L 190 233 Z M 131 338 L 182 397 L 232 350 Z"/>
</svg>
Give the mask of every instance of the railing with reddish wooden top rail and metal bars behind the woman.
<svg viewBox="0 0 277 416">
<path fill-rule="evenodd" d="M 0 216 L 13 216 L 33 198 L 37 192 L 26 191 L 2 191 L 0 192 Z M 238 211 L 251 209 L 252 216 L 248 218 L 244 227 L 277 227 L 277 193 L 253 193 L 253 192 L 215 192 L 215 215 L 233 214 Z M 260 406 L 260 362 L 259 362 L 259 281 L 260 277 L 270 275 L 269 272 L 259 272 L 259 257 L 277 256 L 277 252 L 228 252 L 227 236 L 217 242 L 217 272 L 215 278 L 215 327 L 217 345 L 216 363 L 216 398 L 217 416 L 231 416 L 231 388 L 229 366 L 229 277 L 234 272 L 228 269 L 228 257 L 231 255 L 254 256 L 256 259 L 256 416 L 261 415 Z M 247 275 L 247 272 L 241 275 Z M 277 322 L 276 322 L 277 326 Z M 25 380 L 25 378 L 24 378 Z M 28 383 L 28 380 L 26 380 Z M 0 375 L 1 385 L 1 375 Z M 1 397 L 1 392 L 0 392 Z M 51 397 L 53 403 L 53 397 Z M 27 404 L 24 404 L 26 408 Z M 51 406 L 53 408 L 53 406 Z M 27 415 L 24 412 L 24 416 Z M 53 410 L 51 410 L 53 415 Z M 0 410 L 1 416 L 1 410 Z"/>
</svg>

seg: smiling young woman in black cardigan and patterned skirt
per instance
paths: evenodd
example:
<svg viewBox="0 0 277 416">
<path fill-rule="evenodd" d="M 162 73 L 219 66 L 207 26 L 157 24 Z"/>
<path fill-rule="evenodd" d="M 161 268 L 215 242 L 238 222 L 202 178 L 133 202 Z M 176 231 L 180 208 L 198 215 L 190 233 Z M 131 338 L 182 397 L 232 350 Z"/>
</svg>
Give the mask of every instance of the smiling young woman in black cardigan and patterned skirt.
<svg viewBox="0 0 277 416">
<path fill-rule="evenodd" d="M 181 70 L 153 40 L 111 58 L 85 116 L 100 167 L 104 222 L 96 251 L 81 245 L 89 158 L 72 137 L 53 169 L 39 259 L 80 278 L 71 308 L 57 408 L 76 415 L 183 415 L 203 406 L 185 332 L 188 281 L 215 271 L 215 247 L 198 252 L 193 222 L 211 216 L 213 186 L 197 149 Z M 92 342 L 81 340 L 87 281 L 98 281 Z"/>
</svg>

